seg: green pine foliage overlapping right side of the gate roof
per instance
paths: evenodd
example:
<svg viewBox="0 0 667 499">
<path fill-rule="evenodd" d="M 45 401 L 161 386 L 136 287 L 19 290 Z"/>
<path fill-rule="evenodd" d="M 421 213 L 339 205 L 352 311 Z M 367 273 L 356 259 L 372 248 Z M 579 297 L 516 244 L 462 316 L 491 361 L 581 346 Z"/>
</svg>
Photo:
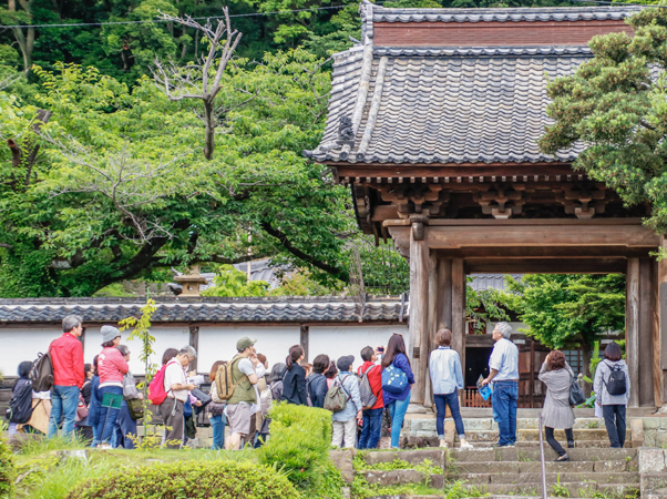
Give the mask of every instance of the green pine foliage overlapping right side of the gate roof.
<svg viewBox="0 0 667 499">
<path fill-rule="evenodd" d="M 628 205 L 646 204 L 645 223 L 667 231 L 667 10 L 626 19 L 635 32 L 595 37 L 594 58 L 547 86 L 555 124 L 540 141 L 544 152 L 583 142 L 574 167 L 605 182 Z"/>
</svg>

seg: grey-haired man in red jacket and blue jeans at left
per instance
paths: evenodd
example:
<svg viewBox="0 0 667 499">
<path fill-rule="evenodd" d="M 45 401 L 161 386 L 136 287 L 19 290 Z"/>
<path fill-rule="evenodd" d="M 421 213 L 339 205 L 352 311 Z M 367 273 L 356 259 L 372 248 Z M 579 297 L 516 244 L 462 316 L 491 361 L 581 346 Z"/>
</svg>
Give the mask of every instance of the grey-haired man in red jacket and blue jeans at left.
<svg viewBox="0 0 667 499">
<path fill-rule="evenodd" d="M 53 391 L 51 394 L 51 418 L 49 438 L 58 436 L 61 419 L 62 436 L 69 438 L 74 431 L 79 390 L 85 380 L 83 368 L 83 345 L 79 339 L 83 327 L 78 315 L 68 315 L 62 319 L 63 335 L 51 342 L 49 352 L 53 363 Z"/>
</svg>

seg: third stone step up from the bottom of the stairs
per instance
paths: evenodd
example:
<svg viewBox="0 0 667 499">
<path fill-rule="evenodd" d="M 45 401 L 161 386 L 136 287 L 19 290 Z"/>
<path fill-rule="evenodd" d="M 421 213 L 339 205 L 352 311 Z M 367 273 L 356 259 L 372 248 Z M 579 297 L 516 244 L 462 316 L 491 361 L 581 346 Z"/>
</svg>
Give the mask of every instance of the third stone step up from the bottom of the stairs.
<svg viewBox="0 0 667 499">
<path fill-rule="evenodd" d="M 548 473 L 565 473 L 565 472 L 623 472 L 629 471 L 633 461 L 568 461 L 568 462 L 545 462 L 546 472 Z M 448 466 L 447 472 L 451 475 L 460 473 L 538 473 L 541 465 L 538 461 L 471 461 L 471 462 L 452 462 Z"/>
</svg>

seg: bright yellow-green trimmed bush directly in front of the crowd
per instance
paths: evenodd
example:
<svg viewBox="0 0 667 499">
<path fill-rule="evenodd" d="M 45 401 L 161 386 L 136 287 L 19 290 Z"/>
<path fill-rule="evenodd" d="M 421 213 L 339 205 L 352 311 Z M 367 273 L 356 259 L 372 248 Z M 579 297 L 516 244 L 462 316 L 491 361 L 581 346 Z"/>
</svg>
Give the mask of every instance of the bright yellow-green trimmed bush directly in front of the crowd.
<svg viewBox="0 0 667 499">
<path fill-rule="evenodd" d="M 276 466 L 300 488 L 319 485 L 329 465 L 331 413 L 284 403 L 269 416 L 270 437 L 259 448 L 259 461 Z"/>
</svg>

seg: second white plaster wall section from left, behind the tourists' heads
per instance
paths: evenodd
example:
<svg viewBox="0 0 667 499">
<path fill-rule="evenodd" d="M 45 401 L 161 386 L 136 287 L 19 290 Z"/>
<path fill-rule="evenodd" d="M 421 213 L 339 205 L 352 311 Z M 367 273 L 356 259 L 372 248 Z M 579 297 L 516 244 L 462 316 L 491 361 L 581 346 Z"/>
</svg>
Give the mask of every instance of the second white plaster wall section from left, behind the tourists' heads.
<svg viewBox="0 0 667 499">
<path fill-rule="evenodd" d="M 151 334 L 155 337 L 153 350 L 155 355 L 151 356 L 153 364 L 162 363 L 162 354 L 167 348 L 178 348 L 189 344 L 189 329 L 187 327 L 152 327 Z M 130 330 L 121 333 L 121 343 L 130 347 L 130 370 L 135 375 L 143 375 L 144 363 L 138 358 L 142 349 L 141 342 L 127 342 Z M 85 328 L 85 346 L 83 357 L 86 363 L 92 363 L 95 355 L 102 352 L 102 335 L 100 327 Z"/>
</svg>

